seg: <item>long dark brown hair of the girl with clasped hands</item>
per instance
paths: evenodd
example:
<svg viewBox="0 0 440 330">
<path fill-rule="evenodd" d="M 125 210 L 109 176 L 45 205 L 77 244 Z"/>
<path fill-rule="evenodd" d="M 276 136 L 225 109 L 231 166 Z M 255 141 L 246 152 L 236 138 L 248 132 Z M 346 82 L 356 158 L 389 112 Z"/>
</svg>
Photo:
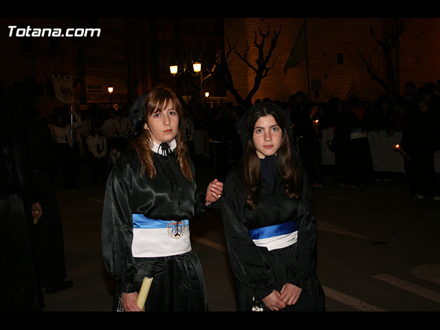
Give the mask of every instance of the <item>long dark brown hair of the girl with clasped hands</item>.
<svg viewBox="0 0 440 330">
<path fill-rule="evenodd" d="M 252 142 L 252 136 L 254 135 L 254 126 L 259 118 L 265 115 L 272 115 L 276 120 L 278 126 L 283 129 L 283 138 L 281 140 L 281 146 L 278 149 L 278 171 L 283 178 L 283 184 L 285 185 L 286 194 L 292 198 L 297 199 L 300 195 L 300 184 L 302 182 L 300 176 L 300 169 L 297 164 L 292 160 L 292 154 L 290 152 L 289 135 L 285 127 L 285 118 L 281 108 L 276 107 L 272 103 L 257 104 L 250 112 L 248 117 L 248 133 L 249 141 L 246 146 L 245 155 L 243 157 L 243 166 L 241 170 L 241 179 L 245 189 L 248 191 L 248 197 L 245 202 L 245 207 L 254 209 L 259 204 L 260 190 L 261 190 L 261 178 L 260 178 L 260 159 L 256 155 L 256 148 Z"/>
</svg>

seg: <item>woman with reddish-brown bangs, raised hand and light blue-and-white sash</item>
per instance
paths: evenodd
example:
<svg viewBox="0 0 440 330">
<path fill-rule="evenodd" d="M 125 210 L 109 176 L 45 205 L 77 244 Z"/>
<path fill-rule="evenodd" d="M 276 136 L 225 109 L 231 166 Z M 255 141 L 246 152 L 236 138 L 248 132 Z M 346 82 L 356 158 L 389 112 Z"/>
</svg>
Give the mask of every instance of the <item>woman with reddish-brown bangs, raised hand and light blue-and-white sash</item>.
<svg viewBox="0 0 440 330">
<path fill-rule="evenodd" d="M 102 214 L 102 256 L 124 311 L 140 311 L 137 296 L 152 277 L 146 311 L 206 311 L 200 261 L 189 224 L 222 194 L 212 181 L 197 190 L 195 166 L 179 133 L 181 104 L 155 87 L 131 108 L 136 137 L 113 166 Z"/>
</svg>

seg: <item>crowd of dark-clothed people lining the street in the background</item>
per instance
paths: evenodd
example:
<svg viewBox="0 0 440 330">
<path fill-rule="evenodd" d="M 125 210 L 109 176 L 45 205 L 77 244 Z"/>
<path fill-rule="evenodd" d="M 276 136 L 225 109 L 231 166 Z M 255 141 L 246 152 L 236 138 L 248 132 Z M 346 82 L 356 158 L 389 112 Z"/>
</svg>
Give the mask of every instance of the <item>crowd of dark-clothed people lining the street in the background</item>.
<svg viewBox="0 0 440 330">
<path fill-rule="evenodd" d="M 337 186 L 362 187 L 375 179 L 369 131 L 386 131 L 388 136 L 401 132 L 410 195 L 438 198 L 433 154 L 440 149 L 440 80 L 418 88 L 415 83 L 406 83 L 402 96 L 384 95 L 373 102 L 355 95 L 313 102 L 303 91 L 287 100 L 265 98 L 254 103 L 264 101 L 274 102 L 289 113 L 292 139 L 312 186 L 323 184 L 322 144 L 335 153 Z M 232 103 L 184 108 L 181 131 L 191 157 L 197 164 L 210 166 L 216 177 L 225 177 L 243 153 L 234 124 L 246 108 Z M 78 159 L 89 166 L 94 184 L 105 184 L 109 169 L 129 145 L 133 133 L 127 109 L 93 107 L 81 116 L 74 113 L 72 120 L 52 115 L 47 118 L 61 168 L 66 173 L 66 189 L 78 188 Z M 323 129 L 333 131 L 333 140 L 322 141 Z M 428 181 L 431 183 L 423 184 Z"/>
</svg>

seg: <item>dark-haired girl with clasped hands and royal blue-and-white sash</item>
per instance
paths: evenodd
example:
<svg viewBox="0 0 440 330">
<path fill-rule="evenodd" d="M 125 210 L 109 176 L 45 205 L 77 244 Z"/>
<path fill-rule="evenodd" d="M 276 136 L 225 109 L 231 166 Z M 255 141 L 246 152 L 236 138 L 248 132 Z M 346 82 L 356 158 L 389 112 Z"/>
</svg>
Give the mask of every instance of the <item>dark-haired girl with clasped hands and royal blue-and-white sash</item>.
<svg viewBox="0 0 440 330">
<path fill-rule="evenodd" d="M 240 311 L 323 311 L 316 215 L 287 114 L 262 102 L 239 121 L 242 162 L 225 179 L 225 240 Z"/>
</svg>

